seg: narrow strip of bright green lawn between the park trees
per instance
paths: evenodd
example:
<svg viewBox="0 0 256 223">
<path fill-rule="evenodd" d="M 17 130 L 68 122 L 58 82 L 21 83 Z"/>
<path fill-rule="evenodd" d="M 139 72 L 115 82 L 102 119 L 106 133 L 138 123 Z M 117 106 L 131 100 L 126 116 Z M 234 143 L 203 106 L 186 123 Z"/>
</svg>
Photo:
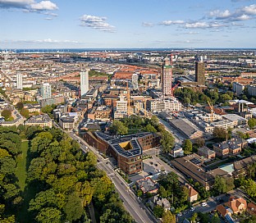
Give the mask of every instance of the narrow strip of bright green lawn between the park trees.
<svg viewBox="0 0 256 223">
<path fill-rule="evenodd" d="M 29 149 L 29 141 L 23 141 L 21 143 L 21 155 L 17 158 L 16 176 L 19 179 L 19 186 L 22 192 L 25 189 L 26 179 L 26 157 Z"/>
</svg>

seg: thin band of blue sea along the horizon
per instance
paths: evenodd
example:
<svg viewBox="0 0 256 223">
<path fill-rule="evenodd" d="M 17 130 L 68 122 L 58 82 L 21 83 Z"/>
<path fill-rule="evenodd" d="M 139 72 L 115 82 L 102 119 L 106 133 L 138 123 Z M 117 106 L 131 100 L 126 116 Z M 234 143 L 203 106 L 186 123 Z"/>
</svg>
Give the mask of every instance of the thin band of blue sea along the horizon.
<svg viewBox="0 0 256 223">
<path fill-rule="evenodd" d="M 256 48 L 30 48 L 30 49 L 1 49 L 11 52 L 171 52 L 171 51 L 256 51 Z"/>
</svg>

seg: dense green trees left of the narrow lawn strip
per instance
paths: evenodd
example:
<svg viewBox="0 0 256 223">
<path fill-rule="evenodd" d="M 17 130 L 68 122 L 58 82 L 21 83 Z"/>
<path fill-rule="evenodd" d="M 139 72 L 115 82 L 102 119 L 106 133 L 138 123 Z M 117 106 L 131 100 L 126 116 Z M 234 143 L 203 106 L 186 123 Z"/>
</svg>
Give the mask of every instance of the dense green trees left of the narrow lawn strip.
<svg viewBox="0 0 256 223">
<path fill-rule="evenodd" d="M 16 178 L 16 158 L 21 153 L 21 137 L 16 127 L 0 126 L 0 222 L 15 222 L 22 203 Z"/>
</svg>

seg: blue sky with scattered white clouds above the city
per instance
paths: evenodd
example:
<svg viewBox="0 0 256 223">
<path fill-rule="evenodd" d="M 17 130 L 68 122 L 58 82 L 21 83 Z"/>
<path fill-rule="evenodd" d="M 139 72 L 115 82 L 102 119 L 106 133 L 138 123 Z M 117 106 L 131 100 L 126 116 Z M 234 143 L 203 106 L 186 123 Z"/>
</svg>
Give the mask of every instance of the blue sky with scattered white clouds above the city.
<svg viewBox="0 0 256 223">
<path fill-rule="evenodd" d="M 0 0 L 0 48 L 256 48 L 256 1 Z"/>
</svg>

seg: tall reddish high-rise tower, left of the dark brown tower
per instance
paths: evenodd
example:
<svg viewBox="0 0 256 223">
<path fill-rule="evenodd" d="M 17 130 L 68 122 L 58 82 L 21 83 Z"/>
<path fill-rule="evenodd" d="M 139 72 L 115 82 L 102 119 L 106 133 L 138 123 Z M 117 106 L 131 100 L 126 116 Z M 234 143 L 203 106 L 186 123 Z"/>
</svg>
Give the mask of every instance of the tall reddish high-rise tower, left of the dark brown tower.
<svg viewBox="0 0 256 223">
<path fill-rule="evenodd" d="M 162 64 L 162 94 L 171 95 L 171 64 L 168 58 L 165 58 Z"/>
</svg>

